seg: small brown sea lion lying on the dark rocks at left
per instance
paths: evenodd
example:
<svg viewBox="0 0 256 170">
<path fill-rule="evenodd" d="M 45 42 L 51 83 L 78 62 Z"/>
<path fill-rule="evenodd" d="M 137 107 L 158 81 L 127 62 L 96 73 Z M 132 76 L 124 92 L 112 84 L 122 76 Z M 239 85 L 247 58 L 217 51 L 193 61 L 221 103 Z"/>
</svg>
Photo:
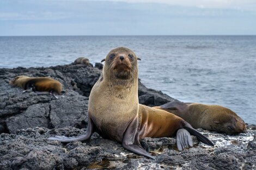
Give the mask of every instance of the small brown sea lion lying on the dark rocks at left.
<svg viewBox="0 0 256 170">
<path fill-rule="evenodd" d="M 13 80 L 9 81 L 10 85 L 21 87 L 25 91 L 32 88 L 32 90 L 38 95 L 48 95 L 52 94 L 54 97 L 58 98 L 62 92 L 62 84 L 49 77 L 28 77 L 25 75 L 16 76 Z M 57 95 L 55 94 L 57 93 Z"/>
</svg>

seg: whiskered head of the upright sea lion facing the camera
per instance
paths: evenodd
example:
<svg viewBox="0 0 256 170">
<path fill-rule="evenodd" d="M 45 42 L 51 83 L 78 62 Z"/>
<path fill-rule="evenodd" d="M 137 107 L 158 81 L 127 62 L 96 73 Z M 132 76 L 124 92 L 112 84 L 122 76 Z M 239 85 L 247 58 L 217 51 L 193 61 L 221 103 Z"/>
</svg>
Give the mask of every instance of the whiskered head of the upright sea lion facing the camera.
<svg viewBox="0 0 256 170">
<path fill-rule="evenodd" d="M 137 55 L 126 47 L 112 49 L 106 56 L 103 66 L 103 78 L 108 78 L 115 83 L 138 79 Z M 101 62 L 102 62 L 101 61 Z"/>
</svg>

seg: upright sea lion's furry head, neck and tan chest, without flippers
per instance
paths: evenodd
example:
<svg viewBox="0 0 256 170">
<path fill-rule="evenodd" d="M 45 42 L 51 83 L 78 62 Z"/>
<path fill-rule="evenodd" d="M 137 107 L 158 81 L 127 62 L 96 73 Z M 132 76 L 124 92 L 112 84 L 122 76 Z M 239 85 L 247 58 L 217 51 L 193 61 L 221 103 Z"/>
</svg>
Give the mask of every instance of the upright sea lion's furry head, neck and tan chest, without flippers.
<svg viewBox="0 0 256 170">
<path fill-rule="evenodd" d="M 130 53 L 135 56 L 133 60 Z M 110 54 L 115 57 L 110 59 Z M 90 92 L 88 114 L 103 136 L 122 142 L 130 121 L 138 117 L 137 59 L 130 49 L 120 47 L 112 49 L 105 60 L 101 78 Z"/>
</svg>

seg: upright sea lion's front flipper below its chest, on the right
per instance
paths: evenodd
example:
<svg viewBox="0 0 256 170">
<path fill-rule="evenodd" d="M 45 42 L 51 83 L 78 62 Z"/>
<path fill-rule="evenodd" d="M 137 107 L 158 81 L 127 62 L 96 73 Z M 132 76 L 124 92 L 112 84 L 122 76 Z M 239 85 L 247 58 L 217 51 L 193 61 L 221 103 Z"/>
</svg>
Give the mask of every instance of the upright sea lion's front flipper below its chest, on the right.
<svg viewBox="0 0 256 170">
<path fill-rule="evenodd" d="M 138 118 L 128 125 L 125 130 L 122 145 L 125 149 L 130 150 L 138 155 L 147 156 L 148 158 L 155 159 L 154 156 L 150 155 L 139 143 L 139 135 L 137 130 Z"/>
</svg>

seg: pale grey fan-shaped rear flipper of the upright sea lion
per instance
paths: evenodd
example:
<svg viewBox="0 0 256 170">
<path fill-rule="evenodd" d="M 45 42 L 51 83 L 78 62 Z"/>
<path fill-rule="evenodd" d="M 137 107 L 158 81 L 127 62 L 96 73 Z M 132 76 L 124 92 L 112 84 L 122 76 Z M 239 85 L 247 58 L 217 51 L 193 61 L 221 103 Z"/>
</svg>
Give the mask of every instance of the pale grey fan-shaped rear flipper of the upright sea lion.
<svg viewBox="0 0 256 170">
<path fill-rule="evenodd" d="M 176 138 L 177 147 L 178 147 L 178 149 L 180 151 L 182 149 L 185 149 L 185 148 L 193 146 L 190 133 L 186 129 L 179 129 L 177 131 L 177 135 L 176 136 L 177 136 L 177 138 Z"/>
</svg>

